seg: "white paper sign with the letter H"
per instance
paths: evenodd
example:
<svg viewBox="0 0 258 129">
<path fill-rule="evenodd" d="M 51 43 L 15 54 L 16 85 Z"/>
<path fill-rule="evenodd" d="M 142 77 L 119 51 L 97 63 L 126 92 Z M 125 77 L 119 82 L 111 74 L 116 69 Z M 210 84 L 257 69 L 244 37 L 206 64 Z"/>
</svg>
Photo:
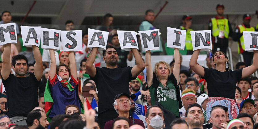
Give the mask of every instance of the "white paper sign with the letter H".
<svg viewBox="0 0 258 129">
<path fill-rule="evenodd" d="M 59 50 L 61 30 L 41 28 L 41 48 Z M 62 39 L 63 40 L 63 39 Z"/>
</svg>

